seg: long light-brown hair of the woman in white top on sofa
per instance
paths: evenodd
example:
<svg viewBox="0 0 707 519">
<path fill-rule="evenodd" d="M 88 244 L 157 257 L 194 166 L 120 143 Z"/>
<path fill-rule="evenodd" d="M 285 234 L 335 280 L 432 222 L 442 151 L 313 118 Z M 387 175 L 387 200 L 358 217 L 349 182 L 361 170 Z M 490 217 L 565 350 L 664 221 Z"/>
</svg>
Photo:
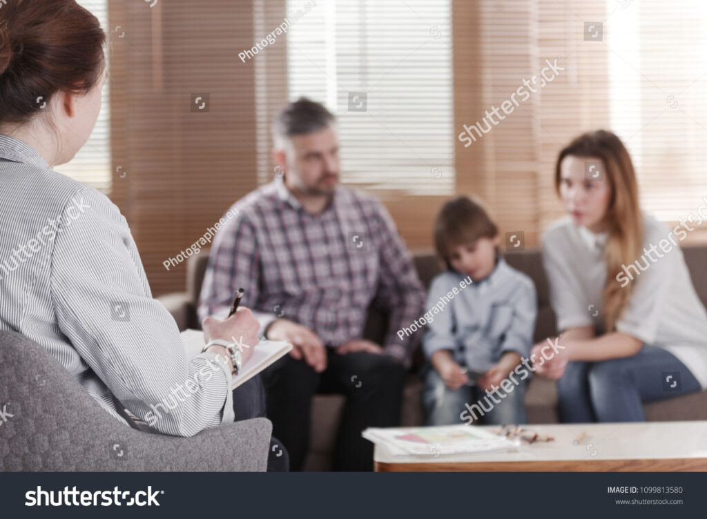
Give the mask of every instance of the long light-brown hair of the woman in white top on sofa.
<svg viewBox="0 0 707 519">
<path fill-rule="evenodd" d="M 605 332 L 612 332 L 631 298 L 633 283 L 621 288 L 617 275 L 621 266 L 636 261 L 643 247 L 643 216 L 638 204 L 638 183 L 631 156 L 621 139 L 612 132 L 597 130 L 576 137 L 560 151 L 555 165 L 555 189 L 560 194 L 560 165 L 566 156 L 599 158 L 604 180 L 611 187 L 611 199 L 604 218 L 609 238 L 604 251 L 607 281 L 604 284 L 603 320 Z"/>
</svg>

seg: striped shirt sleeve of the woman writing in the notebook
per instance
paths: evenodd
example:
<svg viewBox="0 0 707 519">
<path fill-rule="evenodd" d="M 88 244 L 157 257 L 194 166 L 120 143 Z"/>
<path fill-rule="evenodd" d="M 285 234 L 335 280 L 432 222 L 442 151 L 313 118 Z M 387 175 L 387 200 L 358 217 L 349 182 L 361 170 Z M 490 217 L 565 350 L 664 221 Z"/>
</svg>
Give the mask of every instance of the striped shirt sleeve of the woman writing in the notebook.
<svg viewBox="0 0 707 519">
<path fill-rule="evenodd" d="M 49 268 L 59 327 L 83 362 L 160 433 L 193 436 L 232 422 L 226 363 L 213 353 L 187 360 L 173 317 L 151 297 L 125 218 L 94 189 L 74 199 L 85 212 L 57 226 Z"/>
</svg>

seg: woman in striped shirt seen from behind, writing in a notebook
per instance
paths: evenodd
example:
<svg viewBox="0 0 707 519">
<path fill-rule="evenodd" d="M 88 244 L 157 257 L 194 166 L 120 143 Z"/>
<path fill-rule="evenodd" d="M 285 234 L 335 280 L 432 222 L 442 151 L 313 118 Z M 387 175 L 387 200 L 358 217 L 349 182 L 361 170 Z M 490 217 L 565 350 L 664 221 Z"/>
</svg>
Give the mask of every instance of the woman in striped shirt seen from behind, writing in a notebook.
<svg viewBox="0 0 707 519">
<path fill-rule="evenodd" d="M 0 329 L 44 346 L 115 419 L 192 436 L 235 417 L 232 355 L 213 340 L 255 346 L 259 324 L 246 308 L 207 317 L 188 360 L 117 206 L 52 170 L 98 119 L 105 41 L 74 0 L 1 4 Z"/>
</svg>

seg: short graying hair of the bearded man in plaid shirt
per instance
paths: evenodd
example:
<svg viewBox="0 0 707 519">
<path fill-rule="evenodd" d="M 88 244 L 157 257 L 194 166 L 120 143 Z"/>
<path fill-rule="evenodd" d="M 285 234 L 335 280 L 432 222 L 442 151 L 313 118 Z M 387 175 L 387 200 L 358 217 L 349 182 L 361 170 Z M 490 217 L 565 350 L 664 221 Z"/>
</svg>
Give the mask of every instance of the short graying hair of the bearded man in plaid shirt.
<svg viewBox="0 0 707 519">
<path fill-rule="evenodd" d="M 325 129 L 336 121 L 325 105 L 308 98 L 299 98 L 288 103 L 272 122 L 272 139 L 276 147 L 284 146 L 286 139 L 293 135 L 311 134 Z"/>
</svg>

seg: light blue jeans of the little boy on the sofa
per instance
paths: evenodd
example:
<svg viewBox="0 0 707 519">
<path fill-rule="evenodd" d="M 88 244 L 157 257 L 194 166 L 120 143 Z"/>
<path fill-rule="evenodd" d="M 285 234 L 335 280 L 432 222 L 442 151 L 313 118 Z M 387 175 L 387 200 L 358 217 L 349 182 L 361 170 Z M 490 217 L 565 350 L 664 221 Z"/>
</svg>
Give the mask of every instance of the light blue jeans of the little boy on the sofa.
<svg viewBox="0 0 707 519">
<path fill-rule="evenodd" d="M 525 413 L 525 390 L 528 379 L 518 380 L 520 384 L 513 384 L 513 390 L 506 393 L 503 389 L 493 393 L 496 401 L 478 385 L 462 385 L 457 390 L 450 390 L 444 383 L 442 377 L 432 366 L 425 366 L 421 373 L 423 379 L 422 407 L 425 411 L 425 425 L 455 425 L 466 424 L 469 412 L 464 404 L 471 406 L 479 404 L 481 411 L 474 407 L 474 414 L 481 419 L 483 424 L 506 425 L 525 424 L 527 415 Z M 505 395 L 505 397 L 503 396 Z M 460 416 L 462 413 L 464 418 Z"/>
</svg>

